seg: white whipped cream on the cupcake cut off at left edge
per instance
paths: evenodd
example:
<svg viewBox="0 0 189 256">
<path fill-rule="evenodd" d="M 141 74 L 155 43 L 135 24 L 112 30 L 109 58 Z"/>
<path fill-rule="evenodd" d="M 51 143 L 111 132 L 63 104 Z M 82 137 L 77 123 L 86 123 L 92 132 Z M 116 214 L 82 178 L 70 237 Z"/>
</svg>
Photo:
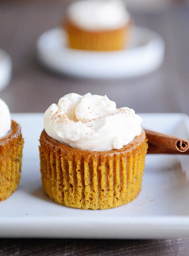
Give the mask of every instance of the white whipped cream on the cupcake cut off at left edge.
<svg viewBox="0 0 189 256">
<path fill-rule="evenodd" d="M 0 99 L 0 137 L 5 136 L 11 129 L 11 115 L 5 101 Z"/>
</svg>

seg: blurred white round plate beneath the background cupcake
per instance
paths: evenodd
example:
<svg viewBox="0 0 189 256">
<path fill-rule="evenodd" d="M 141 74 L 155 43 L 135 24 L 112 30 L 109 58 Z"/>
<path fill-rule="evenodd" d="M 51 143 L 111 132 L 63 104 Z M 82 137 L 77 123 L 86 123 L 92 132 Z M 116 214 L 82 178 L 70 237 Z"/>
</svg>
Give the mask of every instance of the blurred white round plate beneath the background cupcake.
<svg viewBox="0 0 189 256">
<path fill-rule="evenodd" d="M 37 40 L 40 62 L 53 71 L 87 78 L 135 77 L 156 70 L 164 58 L 164 41 L 157 33 L 134 26 L 130 46 L 122 51 L 82 51 L 67 47 L 61 28 L 43 33 Z"/>
</svg>

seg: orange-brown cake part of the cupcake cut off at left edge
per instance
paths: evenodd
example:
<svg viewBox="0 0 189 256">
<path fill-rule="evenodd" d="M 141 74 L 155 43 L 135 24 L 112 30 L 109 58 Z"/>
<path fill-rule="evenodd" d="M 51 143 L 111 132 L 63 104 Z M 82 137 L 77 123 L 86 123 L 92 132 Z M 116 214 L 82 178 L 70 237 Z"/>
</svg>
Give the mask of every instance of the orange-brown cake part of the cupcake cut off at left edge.
<svg viewBox="0 0 189 256">
<path fill-rule="evenodd" d="M 8 198 L 20 182 L 23 143 L 20 125 L 12 120 L 11 131 L 0 138 L 0 201 Z"/>
</svg>

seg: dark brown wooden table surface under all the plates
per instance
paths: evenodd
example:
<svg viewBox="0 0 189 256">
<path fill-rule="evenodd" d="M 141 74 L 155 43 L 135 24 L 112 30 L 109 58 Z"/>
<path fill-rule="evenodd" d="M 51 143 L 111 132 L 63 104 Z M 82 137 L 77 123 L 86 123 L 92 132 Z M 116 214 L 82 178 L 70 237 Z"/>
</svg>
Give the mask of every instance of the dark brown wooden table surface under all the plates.
<svg viewBox="0 0 189 256">
<path fill-rule="evenodd" d="M 137 112 L 189 114 L 189 6 L 137 12 L 136 24 L 160 33 L 165 60 L 152 74 L 135 79 L 85 80 L 49 73 L 36 60 L 36 39 L 59 25 L 63 0 L 0 1 L 0 48 L 12 58 L 10 85 L 0 92 L 11 112 L 43 112 L 68 92 L 107 94 L 118 107 Z M 144 231 L 145 232 L 145 231 Z M 0 239 L 0 255 L 189 255 L 189 239 L 71 240 Z"/>
</svg>

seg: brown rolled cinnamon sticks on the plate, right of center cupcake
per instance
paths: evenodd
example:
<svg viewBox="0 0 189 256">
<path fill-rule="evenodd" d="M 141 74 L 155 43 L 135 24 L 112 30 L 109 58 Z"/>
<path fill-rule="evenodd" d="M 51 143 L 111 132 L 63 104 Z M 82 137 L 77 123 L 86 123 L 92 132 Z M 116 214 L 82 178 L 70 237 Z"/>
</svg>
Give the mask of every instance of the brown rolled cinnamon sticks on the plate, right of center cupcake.
<svg viewBox="0 0 189 256">
<path fill-rule="evenodd" d="M 149 144 L 148 153 L 189 153 L 189 141 L 185 139 L 146 129 L 145 132 Z"/>
</svg>

